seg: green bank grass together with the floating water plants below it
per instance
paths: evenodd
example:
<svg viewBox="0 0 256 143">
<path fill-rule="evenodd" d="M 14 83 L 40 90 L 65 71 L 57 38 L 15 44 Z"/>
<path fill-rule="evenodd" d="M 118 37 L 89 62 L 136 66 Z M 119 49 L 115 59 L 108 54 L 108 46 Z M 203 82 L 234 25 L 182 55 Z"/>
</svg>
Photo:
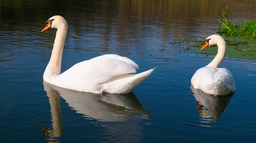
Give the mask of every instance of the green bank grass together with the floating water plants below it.
<svg viewBox="0 0 256 143">
<path fill-rule="evenodd" d="M 222 17 L 219 21 L 219 27 L 216 33 L 221 35 L 226 43 L 227 50 L 225 57 L 236 58 L 240 60 L 251 60 L 256 61 L 256 18 L 252 21 L 245 20 L 244 23 L 234 23 L 234 21 L 228 22 L 228 10 L 229 6 L 225 7 L 225 11 L 222 10 Z M 201 51 L 201 47 L 204 45 L 204 39 L 197 39 L 195 41 L 186 41 L 185 39 L 180 39 L 179 42 L 171 42 L 172 46 L 179 46 L 178 51 L 192 51 L 197 54 L 215 56 L 217 54 L 217 46 L 210 46 L 207 49 Z M 150 46 L 150 45 L 149 45 Z M 168 51 L 167 46 L 160 45 L 155 51 L 156 60 L 164 54 L 164 51 Z M 145 50 L 146 51 L 146 50 Z M 158 52 L 159 51 L 159 52 Z M 147 52 L 147 51 L 146 51 Z M 149 56 L 149 52 L 147 52 Z"/>
</svg>

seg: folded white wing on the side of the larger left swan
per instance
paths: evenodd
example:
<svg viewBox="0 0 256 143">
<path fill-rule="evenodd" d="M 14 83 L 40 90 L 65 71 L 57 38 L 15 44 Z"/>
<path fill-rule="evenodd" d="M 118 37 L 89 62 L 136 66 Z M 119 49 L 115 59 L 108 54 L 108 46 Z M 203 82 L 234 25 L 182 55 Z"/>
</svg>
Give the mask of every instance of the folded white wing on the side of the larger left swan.
<svg viewBox="0 0 256 143">
<path fill-rule="evenodd" d="M 137 65 L 137 64 L 136 64 Z M 60 75 L 64 79 L 72 79 L 73 82 L 104 83 L 115 76 L 128 73 L 136 73 L 134 64 L 111 58 L 92 58 L 75 64 Z"/>
</svg>

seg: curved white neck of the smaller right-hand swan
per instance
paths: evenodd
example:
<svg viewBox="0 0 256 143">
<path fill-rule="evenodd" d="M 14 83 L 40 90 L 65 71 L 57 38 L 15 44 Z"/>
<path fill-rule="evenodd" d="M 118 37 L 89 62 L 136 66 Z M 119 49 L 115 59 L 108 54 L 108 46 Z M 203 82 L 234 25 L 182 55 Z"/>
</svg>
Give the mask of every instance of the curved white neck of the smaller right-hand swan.
<svg viewBox="0 0 256 143">
<path fill-rule="evenodd" d="M 222 60 L 224 59 L 225 52 L 226 52 L 226 42 L 224 40 L 219 41 L 217 45 L 218 45 L 218 53 L 216 57 L 212 60 L 212 62 L 210 62 L 206 67 L 219 67 Z"/>
</svg>

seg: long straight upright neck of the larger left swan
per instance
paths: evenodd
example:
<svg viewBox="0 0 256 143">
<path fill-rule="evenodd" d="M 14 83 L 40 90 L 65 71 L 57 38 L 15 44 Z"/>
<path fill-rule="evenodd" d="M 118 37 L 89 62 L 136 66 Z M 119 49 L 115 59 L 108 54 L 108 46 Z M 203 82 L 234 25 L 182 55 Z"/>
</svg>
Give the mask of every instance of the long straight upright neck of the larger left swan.
<svg viewBox="0 0 256 143">
<path fill-rule="evenodd" d="M 67 30 L 68 27 L 64 24 L 64 26 L 60 27 L 56 32 L 56 38 L 53 44 L 52 55 L 49 64 L 47 65 L 46 70 L 44 71 L 44 78 L 46 76 L 58 75 L 61 73 L 61 59 L 65 38 L 67 35 Z"/>
</svg>

